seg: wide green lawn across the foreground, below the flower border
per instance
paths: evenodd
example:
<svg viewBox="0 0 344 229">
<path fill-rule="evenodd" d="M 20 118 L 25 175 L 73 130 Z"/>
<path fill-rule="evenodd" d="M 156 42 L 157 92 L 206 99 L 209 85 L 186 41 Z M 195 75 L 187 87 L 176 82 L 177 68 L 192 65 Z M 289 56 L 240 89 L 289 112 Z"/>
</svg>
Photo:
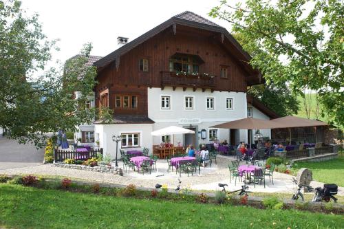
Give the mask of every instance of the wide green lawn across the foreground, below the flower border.
<svg viewBox="0 0 344 229">
<path fill-rule="evenodd" d="M 341 228 L 344 220 L 343 215 L 297 210 L 98 196 L 10 184 L 0 184 L 0 203 L 0 228 Z"/>
</svg>

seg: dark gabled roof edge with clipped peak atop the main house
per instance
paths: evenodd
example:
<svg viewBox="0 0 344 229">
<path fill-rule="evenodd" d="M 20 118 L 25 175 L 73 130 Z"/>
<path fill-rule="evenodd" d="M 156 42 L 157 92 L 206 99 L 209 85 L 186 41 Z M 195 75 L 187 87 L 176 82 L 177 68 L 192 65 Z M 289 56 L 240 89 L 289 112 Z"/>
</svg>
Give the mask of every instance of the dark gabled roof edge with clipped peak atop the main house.
<svg viewBox="0 0 344 229">
<path fill-rule="evenodd" d="M 226 37 L 226 39 L 228 39 L 230 43 L 234 45 L 235 49 L 239 51 L 241 55 L 240 58 L 244 58 L 247 62 L 250 61 L 250 55 L 242 49 L 241 45 L 233 38 L 232 35 L 230 35 L 230 33 L 225 28 L 209 21 L 208 19 L 204 19 L 203 17 L 200 17 L 200 15 L 197 15 L 193 12 L 185 11 L 181 14 L 177 14 L 174 17 L 171 17 L 171 19 L 165 21 L 164 23 L 161 23 L 157 27 L 142 34 L 137 39 L 130 41 L 126 45 L 123 45 L 122 47 L 118 48 L 118 50 L 111 52 L 104 58 L 101 58 L 99 61 L 96 61 L 94 65 L 96 67 L 105 67 L 109 65 L 109 63 L 115 61 L 116 58 L 119 58 L 122 54 L 129 52 L 129 50 L 140 45 L 144 41 L 147 41 L 156 34 L 159 34 L 166 28 L 169 28 L 171 25 L 185 25 L 193 28 L 199 28 L 202 30 L 222 33 L 224 34 L 224 37 Z"/>
</svg>

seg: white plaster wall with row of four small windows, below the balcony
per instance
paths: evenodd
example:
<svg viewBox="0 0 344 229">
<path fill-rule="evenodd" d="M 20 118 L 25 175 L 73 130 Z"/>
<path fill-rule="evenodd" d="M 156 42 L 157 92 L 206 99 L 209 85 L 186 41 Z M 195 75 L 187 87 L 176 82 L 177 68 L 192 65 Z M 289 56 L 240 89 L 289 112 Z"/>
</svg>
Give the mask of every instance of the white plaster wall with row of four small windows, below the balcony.
<svg viewBox="0 0 344 229">
<path fill-rule="evenodd" d="M 171 109 L 160 109 L 160 97 L 171 97 Z M 193 96 L 194 109 L 184 109 L 184 97 Z M 206 98 L 215 98 L 215 109 L 206 109 Z M 233 110 L 226 110 L 226 98 L 233 98 Z M 188 123 L 180 123 L 182 118 L 196 118 L 200 122 L 192 123 L 193 127 L 197 126 L 197 131 L 206 129 L 206 139 L 202 140 L 196 133 L 198 144 L 205 144 L 209 142 L 209 132 L 211 126 L 229 122 L 247 116 L 247 102 L 246 93 L 243 92 L 228 92 L 228 91 L 213 91 L 207 89 L 202 92 L 202 89 L 188 88 L 183 91 L 182 88 L 177 88 L 173 91 L 172 87 L 165 87 L 164 90 L 160 88 L 148 89 L 148 115 L 153 124 L 153 131 L 175 125 L 178 127 L 189 127 Z M 230 140 L 230 131 L 228 129 L 218 129 L 218 139 L 220 141 Z M 245 141 L 247 139 L 247 131 L 240 130 L 236 132 L 237 142 Z M 153 144 L 159 144 L 161 138 L 153 137 Z M 183 142 L 183 135 L 175 135 L 174 143 Z M 196 146 L 198 147 L 198 146 Z"/>
</svg>

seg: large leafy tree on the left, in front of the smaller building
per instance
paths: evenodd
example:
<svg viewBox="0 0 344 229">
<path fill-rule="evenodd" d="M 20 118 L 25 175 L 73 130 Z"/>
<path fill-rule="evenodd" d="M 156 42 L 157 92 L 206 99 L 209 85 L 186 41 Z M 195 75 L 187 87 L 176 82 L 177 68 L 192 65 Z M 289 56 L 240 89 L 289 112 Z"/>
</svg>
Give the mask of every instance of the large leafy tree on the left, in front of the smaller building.
<svg viewBox="0 0 344 229">
<path fill-rule="evenodd" d="M 0 126 L 21 143 L 43 146 L 45 133 L 92 122 L 95 109 L 83 109 L 93 95 L 96 68 L 85 67 L 92 45 L 60 68 L 44 69 L 54 41 L 47 41 L 38 15 L 27 17 L 21 2 L 0 1 Z M 75 98 L 74 92 L 81 96 Z"/>
</svg>

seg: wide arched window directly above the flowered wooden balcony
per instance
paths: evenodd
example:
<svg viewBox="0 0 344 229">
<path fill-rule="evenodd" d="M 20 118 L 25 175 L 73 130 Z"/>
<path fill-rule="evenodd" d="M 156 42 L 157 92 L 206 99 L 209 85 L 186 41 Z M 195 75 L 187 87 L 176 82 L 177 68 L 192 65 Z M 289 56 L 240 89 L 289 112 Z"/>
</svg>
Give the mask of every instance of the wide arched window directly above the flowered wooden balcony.
<svg viewBox="0 0 344 229">
<path fill-rule="evenodd" d="M 191 55 L 175 54 L 170 58 L 171 72 L 186 72 L 188 74 L 200 72 L 200 59 Z"/>
</svg>

